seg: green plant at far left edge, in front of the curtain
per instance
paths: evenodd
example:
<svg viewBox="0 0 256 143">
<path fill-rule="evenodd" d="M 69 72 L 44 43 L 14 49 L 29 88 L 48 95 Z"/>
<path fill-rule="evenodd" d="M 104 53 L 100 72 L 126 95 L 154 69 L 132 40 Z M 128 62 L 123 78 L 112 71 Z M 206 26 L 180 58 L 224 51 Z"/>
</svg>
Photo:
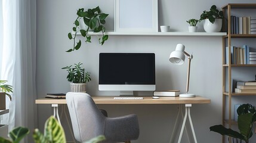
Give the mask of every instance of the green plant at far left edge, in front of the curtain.
<svg viewBox="0 0 256 143">
<path fill-rule="evenodd" d="M 5 95 L 11 100 L 11 95 L 7 92 L 13 92 L 13 86 L 6 85 L 7 80 L 0 80 L 0 110 L 5 110 Z"/>
</svg>

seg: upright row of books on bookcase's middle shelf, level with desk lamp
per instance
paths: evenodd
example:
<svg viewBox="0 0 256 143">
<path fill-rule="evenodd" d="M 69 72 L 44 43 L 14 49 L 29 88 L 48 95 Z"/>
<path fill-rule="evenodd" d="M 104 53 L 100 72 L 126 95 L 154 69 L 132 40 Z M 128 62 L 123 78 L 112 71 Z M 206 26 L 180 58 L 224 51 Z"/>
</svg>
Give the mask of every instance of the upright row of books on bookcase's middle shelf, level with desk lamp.
<svg viewBox="0 0 256 143">
<path fill-rule="evenodd" d="M 226 64 L 229 64 L 229 47 L 226 47 Z M 231 64 L 256 64 L 255 49 L 248 45 L 230 46 Z"/>
</svg>

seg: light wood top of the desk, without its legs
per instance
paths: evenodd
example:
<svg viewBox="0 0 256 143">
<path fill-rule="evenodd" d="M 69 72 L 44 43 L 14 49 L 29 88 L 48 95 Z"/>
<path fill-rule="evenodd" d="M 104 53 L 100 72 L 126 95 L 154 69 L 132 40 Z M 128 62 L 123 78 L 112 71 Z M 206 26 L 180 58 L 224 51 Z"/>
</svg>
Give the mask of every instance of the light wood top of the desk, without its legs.
<svg viewBox="0 0 256 143">
<path fill-rule="evenodd" d="M 143 97 L 143 100 L 114 100 L 114 97 L 92 96 L 96 104 L 207 104 L 211 100 L 205 97 Z M 67 104 L 66 99 L 40 98 L 35 101 L 36 104 Z"/>
</svg>

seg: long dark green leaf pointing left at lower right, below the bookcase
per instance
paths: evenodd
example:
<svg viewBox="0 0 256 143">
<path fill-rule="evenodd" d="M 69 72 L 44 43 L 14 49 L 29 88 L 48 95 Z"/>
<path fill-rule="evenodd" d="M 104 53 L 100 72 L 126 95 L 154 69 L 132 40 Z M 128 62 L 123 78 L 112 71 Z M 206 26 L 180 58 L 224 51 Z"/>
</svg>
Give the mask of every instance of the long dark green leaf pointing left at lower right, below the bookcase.
<svg viewBox="0 0 256 143">
<path fill-rule="evenodd" d="M 244 139 L 242 134 L 240 134 L 239 132 L 236 132 L 235 130 L 227 129 L 223 125 L 211 126 L 210 130 L 213 132 L 220 133 L 221 135 L 227 135 L 233 138 Z"/>
</svg>

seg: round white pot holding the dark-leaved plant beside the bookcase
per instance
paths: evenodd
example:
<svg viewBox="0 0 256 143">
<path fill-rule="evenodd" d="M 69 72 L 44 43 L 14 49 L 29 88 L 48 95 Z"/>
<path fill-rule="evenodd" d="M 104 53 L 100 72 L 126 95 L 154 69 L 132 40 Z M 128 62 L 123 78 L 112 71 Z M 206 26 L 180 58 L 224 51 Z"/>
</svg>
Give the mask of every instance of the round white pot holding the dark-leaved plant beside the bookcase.
<svg viewBox="0 0 256 143">
<path fill-rule="evenodd" d="M 213 24 L 208 19 L 205 19 L 203 22 L 203 29 L 205 29 L 205 32 L 220 32 L 221 27 L 222 19 L 215 19 Z"/>
</svg>

